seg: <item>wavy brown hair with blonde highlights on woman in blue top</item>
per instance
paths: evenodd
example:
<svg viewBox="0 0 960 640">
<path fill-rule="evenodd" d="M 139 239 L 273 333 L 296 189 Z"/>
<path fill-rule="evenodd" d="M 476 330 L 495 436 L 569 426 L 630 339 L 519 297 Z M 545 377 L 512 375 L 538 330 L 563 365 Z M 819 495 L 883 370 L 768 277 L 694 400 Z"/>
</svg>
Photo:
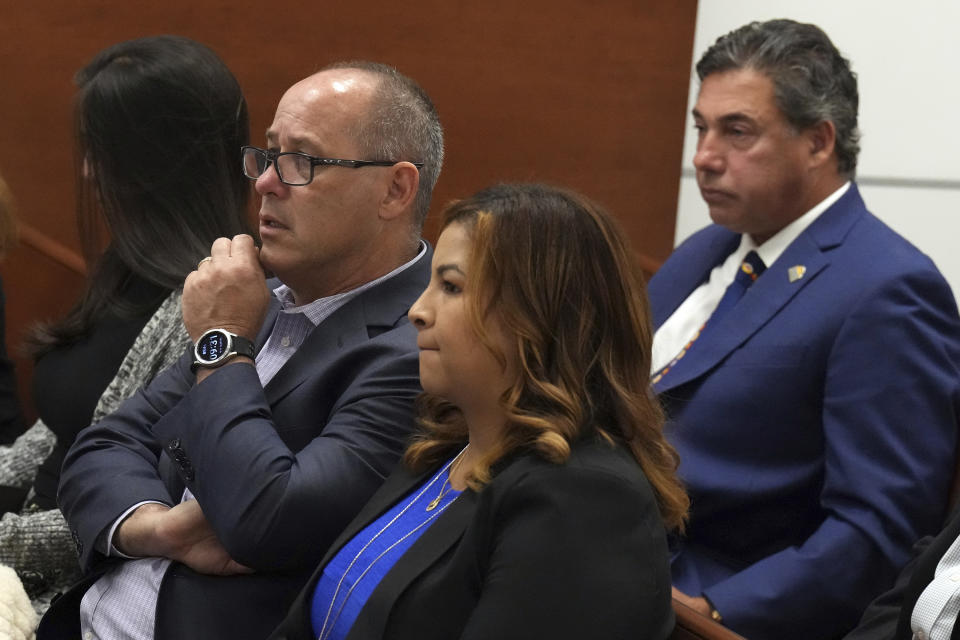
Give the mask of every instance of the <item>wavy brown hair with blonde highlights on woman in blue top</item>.
<svg viewBox="0 0 960 640">
<path fill-rule="evenodd" d="M 650 387 L 646 290 L 613 218 L 570 191 L 504 184 L 449 205 L 442 227 L 451 224 L 465 225 L 472 240 L 465 291 L 473 329 L 506 362 L 484 330 L 497 317 L 518 363 L 500 399 L 500 446 L 474 469 L 471 486 L 514 451 L 561 463 L 573 442 L 600 437 L 630 449 L 665 525 L 682 528 L 689 499 Z M 423 394 L 419 408 L 421 429 L 405 455 L 413 469 L 445 459 L 467 437 L 454 405 Z"/>
</svg>

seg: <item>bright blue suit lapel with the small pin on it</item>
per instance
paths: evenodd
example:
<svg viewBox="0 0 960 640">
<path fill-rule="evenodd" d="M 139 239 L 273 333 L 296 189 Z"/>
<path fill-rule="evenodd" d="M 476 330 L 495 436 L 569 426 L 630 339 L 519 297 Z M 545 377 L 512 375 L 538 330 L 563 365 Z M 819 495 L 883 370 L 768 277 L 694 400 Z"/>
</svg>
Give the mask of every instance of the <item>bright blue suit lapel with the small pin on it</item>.
<svg viewBox="0 0 960 640">
<path fill-rule="evenodd" d="M 829 264 L 827 251 L 843 243 L 853 224 L 866 209 L 856 185 L 815 220 L 744 294 L 730 313 L 712 327 L 703 342 L 690 351 L 655 385 L 664 393 L 699 378 L 743 345 L 800 291 L 813 282 Z M 803 265 L 802 278 L 791 282 L 789 269 Z M 692 289 L 687 289 L 687 295 Z"/>
</svg>

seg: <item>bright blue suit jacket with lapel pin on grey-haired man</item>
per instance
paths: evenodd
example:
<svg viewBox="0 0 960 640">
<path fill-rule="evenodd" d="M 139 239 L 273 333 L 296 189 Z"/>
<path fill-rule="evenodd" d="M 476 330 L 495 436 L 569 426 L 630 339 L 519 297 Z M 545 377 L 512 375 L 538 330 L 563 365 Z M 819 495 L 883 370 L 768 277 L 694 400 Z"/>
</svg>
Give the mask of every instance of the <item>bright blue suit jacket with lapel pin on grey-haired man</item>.
<svg viewBox="0 0 960 640">
<path fill-rule="evenodd" d="M 739 239 L 677 248 L 649 285 L 657 327 Z M 958 363 L 950 288 L 851 185 L 657 385 L 692 498 L 674 584 L 751 640 L 852 627 L 938 530 Z"/>
</svg>

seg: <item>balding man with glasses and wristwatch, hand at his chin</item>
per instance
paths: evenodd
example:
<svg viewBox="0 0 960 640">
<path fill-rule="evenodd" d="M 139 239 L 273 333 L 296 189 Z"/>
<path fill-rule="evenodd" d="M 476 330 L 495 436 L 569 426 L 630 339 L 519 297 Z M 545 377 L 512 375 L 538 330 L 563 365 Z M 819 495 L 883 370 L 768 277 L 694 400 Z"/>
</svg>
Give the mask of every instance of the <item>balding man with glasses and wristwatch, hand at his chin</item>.
<svg viewBox="0 0 960 640">
<path fill-rule="evenodd" d="M 436 110 L 390 67 L 334 64 L 284 94 L 266 147 L 242 150 L 260 248 L 214 243 L 184 283 L 195 348 L 67 456 L 87 577 L 38 638 L 266 637 L 399 458 Z"/>
</svg>

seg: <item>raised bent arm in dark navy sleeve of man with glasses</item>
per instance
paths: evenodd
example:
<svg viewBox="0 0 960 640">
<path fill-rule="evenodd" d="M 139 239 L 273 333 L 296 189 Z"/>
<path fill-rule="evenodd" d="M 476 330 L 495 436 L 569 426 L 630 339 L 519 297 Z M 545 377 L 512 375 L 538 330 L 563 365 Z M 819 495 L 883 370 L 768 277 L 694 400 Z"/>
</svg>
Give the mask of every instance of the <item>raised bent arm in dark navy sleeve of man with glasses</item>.
<svg viewBox="0 0 960 640">
<path fill-rule="evenodd" d="M 413 344 L 401 334 L 353 354 L 365 364 L 356 365 L 329 415 L 275 424 L 256 371 L 236 364 L 210 375 L 157 423 L 162 442 L 178 442 L 192 470 L 188 476 L 181 468 L 181 477 L 235 560 L 259 570 L 319 561 L 406 444 L 421 390 Z M 306 382 L 291 393 L 324 392 Z M 298 430 L 307 441 L 292 451 L 287 442 Z"/>
</svg>

